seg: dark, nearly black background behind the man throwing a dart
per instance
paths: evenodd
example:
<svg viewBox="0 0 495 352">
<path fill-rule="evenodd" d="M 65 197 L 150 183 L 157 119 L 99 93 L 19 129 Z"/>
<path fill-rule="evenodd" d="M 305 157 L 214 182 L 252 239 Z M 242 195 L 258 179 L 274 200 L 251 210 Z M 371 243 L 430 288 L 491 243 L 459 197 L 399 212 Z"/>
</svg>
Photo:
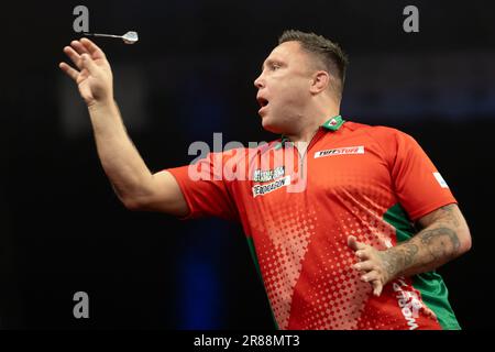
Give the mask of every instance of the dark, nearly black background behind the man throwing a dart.
<svg viewBox="0 0 495 352">
<path fill-rule="evenodd" d="M 473 249 L 440 268 L 465 329 L 493 328 L 493 1 L 16 1 L 1 7 L 0 328 L 272 328 L 240 226 L 121 206 L 87 111 L 58 69 L 89 9 L 129 133 L 154 172 L 194 141 L 268 141 L 253 80 L 285 29 L 350 56 L 342 114 L 398 128 L 427 151 L 471 227 Z M 403 9 L 419 9 L 419 33 Z M 7 30 L 6 30 L 7 29 Z M 73 295 L 90 318 L 73 317 Z"/>
</svg>

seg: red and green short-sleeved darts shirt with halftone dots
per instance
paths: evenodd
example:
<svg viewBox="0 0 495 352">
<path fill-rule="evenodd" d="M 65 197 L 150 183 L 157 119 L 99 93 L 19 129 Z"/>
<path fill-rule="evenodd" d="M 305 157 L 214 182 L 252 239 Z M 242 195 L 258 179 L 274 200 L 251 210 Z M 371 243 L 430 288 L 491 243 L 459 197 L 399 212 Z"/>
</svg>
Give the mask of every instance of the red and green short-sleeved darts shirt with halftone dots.
<svg viewBox="0 0 495 352">
<path fill-rule="evenodd" d="M 352 234 L 378 250 L 394 246 L 417 233 L 414 221 L 457 202 L 418 143 L 340 116 L 320 127 L 302 155 L 286 142 L 168 169 L 187 218 L 241 222 L 277 327 L 460 329 L 436 272 L 398 277 L 375 297 L 346 244 Z M 189 168 L 201 177 L 189 177 Z M 240 172 L 249 177 L 234 177 Z"/>
</svg>

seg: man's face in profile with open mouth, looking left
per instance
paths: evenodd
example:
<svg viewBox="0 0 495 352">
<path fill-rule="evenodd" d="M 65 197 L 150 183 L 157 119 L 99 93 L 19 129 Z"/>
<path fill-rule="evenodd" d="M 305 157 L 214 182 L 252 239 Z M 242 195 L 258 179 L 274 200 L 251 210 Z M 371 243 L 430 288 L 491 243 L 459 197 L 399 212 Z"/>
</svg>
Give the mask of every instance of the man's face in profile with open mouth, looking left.
<svg viewBox="0 0 495 352">
<path fill-rule="evenodd" d="M 311 95 L 311 65 L 298 42 L 285 42 L 273 50 L 254 81 L 263 128 L 289 133 L 304 116 Z"/>
</svg>

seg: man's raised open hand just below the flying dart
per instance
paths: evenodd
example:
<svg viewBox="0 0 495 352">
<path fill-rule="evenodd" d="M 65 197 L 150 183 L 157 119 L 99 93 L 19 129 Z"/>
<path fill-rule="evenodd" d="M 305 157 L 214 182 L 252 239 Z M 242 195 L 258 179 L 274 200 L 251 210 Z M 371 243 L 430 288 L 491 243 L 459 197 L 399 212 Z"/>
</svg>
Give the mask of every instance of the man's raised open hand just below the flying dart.
<svg viewBox="0 0 495 352">
<path fill-rule="evenodd" d="M 113 100 L 110 64 L 105 53 L 94 42 L 86 37 L 73 41 L 70 46 L 64 47 L 64 53 L 76 68 L 66 63 L 61 63 L 58 67 L 76 81 L 80 96 L 88 107 Z"/>
</svg>

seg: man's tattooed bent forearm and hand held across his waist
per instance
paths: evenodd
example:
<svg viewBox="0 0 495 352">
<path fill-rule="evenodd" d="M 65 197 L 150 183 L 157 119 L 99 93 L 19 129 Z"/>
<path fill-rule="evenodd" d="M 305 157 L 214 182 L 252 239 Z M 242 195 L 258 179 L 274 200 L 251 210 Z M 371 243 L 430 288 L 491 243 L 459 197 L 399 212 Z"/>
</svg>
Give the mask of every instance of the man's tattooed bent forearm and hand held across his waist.
<svg viewBox="0 0 495 352">
<path fill-rule="evenodd" d="M 361 279 L 371 283 L 380 296 L 383 286 L 398 276 L 411 276 L 436 270 L 471 249 L 471 234 L 458 205 L 441 207 L 420 218 L 422 230 L 385 251 L 360 243 L 349 237 L 359 263 L 353 267 L 363 273 Z"/>
</svg>

